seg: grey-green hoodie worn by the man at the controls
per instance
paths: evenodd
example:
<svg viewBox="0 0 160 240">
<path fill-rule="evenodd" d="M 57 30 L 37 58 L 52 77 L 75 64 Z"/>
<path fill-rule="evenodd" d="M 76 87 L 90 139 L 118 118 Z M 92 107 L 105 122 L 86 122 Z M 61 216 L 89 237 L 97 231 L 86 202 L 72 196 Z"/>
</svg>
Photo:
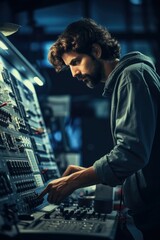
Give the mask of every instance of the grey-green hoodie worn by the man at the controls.
<svg viewBox="0 0 160 240">
<path fill-rule="evenodd" d="M 148 56 L 126 54 L 106 81 L 113 149 L 94 163 L 102 183 L 123 185 L 133 214 L 160 206 L 160 77 Z M 160 220 L 159 220 L 160 221 Z"/>
</svg>

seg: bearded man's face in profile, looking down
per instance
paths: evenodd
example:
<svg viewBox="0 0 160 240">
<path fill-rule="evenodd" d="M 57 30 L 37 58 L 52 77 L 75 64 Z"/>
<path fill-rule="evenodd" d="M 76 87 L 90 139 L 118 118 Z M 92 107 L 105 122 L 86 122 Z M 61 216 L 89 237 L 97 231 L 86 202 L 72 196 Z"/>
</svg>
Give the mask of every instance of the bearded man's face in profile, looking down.
<svg viewBox="0 0 160 240">
<path fill-rule="evenodd" d="M 99 59 L 76 52 L 64 53 L 62 59 L 69 66 L 72 76 L 94 88 L 102 79 L 102 65 Z"/>
</svg>

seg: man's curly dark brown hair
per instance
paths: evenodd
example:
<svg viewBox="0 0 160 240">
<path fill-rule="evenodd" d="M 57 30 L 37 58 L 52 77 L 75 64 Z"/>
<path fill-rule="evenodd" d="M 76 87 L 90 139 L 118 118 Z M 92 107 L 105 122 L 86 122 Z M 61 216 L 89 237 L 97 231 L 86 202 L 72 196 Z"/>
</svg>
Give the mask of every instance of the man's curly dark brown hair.
<svg viewBox="0 0 160 240">
<path fill-rule="evenodd" d="M 113 61 L 120 57 L 120 44 L 108 30 L 92 19 L 83 18 L 68 25 L 51 46 L 48 60 L 56 72 L 60 72 L 65 67 L 62 60 L 64 53 L 74 51 L 91 55 L 93 43 L 101 46 L 102 59 Z"/>
</svg>

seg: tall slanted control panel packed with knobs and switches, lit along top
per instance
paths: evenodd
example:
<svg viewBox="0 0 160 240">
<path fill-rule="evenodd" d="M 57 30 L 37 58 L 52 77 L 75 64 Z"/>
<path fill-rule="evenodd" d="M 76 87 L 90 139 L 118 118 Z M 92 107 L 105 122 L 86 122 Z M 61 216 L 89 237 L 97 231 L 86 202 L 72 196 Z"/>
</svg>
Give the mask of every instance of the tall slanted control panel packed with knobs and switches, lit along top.
<svg viewBox="0 0 160 240">
<path fill-rule="evenodd" d="M 43 77 L 2 34 L 0 41 L 0 216 L 8 218 L 47 204 L 38 193 L 60 174 L 33 84 Z"/>
</svg>

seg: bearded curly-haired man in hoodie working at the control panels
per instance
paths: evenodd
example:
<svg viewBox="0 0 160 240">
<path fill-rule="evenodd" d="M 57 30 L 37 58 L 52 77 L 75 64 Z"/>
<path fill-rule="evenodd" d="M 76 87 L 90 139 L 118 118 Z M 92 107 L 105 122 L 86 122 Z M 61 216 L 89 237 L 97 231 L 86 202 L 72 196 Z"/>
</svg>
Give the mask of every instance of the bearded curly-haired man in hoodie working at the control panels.
<svg viewBox="0 0 160 240">
<path fill-rule="evenodd" d="M 111 98 L 114 147 L 89 168 L 69 166 L 40 197 L 48 194 L 50 203 L 60 203 L 81 187 L 122 184 L 125 205 L 144 239 L 150 239 L 149 234 L 154 239 L 155 232 L 160 236 L 160 78 L 152 60 L 140 52 L 120 58 L 120 44 L 107 29 L 81 19 L 52 45 L 49 61 L 57 72 L 70 68 L 73 77 L 89 88 L 105 84 L 103 96 Z"/>
</svg>

